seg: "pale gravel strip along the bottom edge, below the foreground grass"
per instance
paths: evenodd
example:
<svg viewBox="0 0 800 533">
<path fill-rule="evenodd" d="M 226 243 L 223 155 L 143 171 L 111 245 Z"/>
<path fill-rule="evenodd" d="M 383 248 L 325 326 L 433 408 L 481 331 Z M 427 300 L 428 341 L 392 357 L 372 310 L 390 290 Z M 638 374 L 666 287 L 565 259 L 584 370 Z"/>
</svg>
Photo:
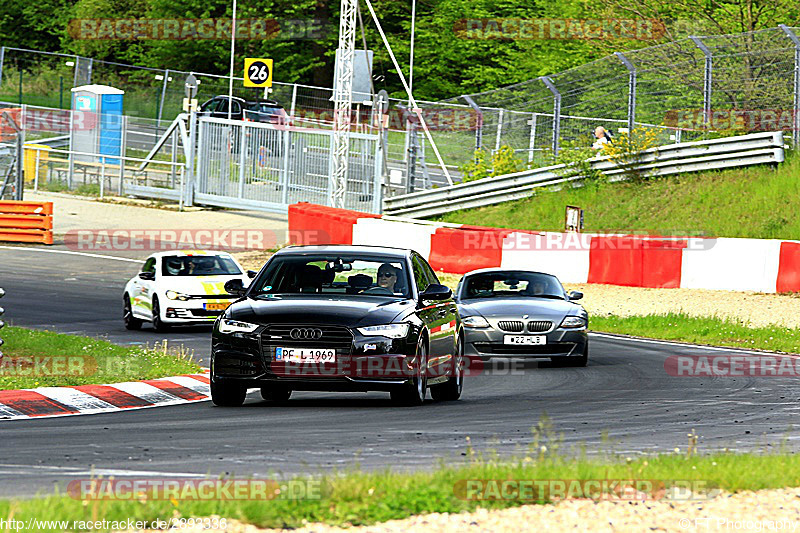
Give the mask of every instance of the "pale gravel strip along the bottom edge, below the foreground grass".
<svg viewBox="0 0 800 533">
<path fill-rule="evenodd" d="M 798 531 L 800 489 L 723 494 L 706 501 L 620 502 L 569 500 L 471 513 L 434 513 L 350 528 L 308 524 L 294 533 L 437 533 L 495 531 Z M 186 529 L 183 531 L 195 531 Z M 196 530 L 202 531 L 200 529 Z M 205 530 L 213 531 L 213 530 Z M 221 530 L 222 531 L 222 530 Z M 228 533 L 289 531 L 229 522 Z"/>
</svg>

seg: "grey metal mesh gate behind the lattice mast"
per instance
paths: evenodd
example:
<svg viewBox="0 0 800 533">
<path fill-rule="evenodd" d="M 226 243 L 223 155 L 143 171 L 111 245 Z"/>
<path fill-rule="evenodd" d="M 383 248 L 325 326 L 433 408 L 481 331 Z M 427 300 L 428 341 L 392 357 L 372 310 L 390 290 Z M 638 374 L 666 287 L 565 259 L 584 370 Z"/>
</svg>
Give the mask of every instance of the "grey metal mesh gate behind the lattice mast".
<svg viewBox="0 0 800 533">
<path fill-rule="evenodd" d="M 379 213 L 382 155 L 377 135 L 351 133 L 345 208 Z M 202 117 L 195 201 L 286 211 L 331 204 L 332 132 Z"/>
</svg>

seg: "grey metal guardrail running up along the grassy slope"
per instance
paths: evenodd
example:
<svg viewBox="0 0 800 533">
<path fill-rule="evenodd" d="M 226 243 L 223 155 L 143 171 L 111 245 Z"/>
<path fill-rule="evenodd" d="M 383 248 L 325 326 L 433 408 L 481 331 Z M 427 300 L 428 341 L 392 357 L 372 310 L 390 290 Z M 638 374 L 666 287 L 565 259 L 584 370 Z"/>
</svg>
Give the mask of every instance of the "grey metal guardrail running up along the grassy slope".
<svg viewBox="0 0 800 533">
<path fill-rule="evenodd" d="M 637 157 L 631 168 L 621 168 L 608 158 L 591 159 L 593 168 L 609 176 L 610 181 L 625 179 L 635 168 L 648 177 L 684 172 L 720 170 L 749 165 L 777 164 L 784 160 L 783 132 L 764 132 L 694 141 L 651 148 Z M 559 170 L 565 165 L 536 168 L 460 183 L 450 187 L 385 198 L 383 213 L 424 218 L 461 209 L 494 205 L 527 198 L 534 189 L 579 181 L 582 176 L 564 177 Z"/>
</svg>

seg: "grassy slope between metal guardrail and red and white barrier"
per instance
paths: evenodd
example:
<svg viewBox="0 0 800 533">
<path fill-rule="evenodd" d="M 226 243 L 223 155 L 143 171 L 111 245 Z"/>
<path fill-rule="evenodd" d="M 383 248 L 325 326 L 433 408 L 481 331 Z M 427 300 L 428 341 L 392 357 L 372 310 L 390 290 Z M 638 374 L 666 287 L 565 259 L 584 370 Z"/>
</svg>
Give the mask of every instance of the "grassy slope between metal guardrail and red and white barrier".
<svg viewBox="0 0 800 533">
<path fill-rule="evenodd" d="M 659 178 L 644 184 L 538 191 L 531 198 L 457 211 L 440 220 L 480 226 L 564 230 L 564 208 L 585 210 L 586 232 L 652 232 L 760 239 L 800 235 L 800 155 L 777 170 L 749 167 Z"/>
</svg>

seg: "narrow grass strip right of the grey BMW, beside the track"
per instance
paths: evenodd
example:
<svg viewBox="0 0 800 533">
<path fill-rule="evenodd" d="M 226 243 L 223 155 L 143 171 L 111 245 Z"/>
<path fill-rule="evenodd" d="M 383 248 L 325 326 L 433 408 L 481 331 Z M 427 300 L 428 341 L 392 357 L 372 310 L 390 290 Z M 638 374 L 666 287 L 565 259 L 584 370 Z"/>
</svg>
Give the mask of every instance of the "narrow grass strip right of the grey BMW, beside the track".
<svg viewBox="0 0 800 533">
<path fill-rule="evenodd" d="M 643 316 L 592 316 L 592 331 L 683 341 L 693 344 L 733 346 L 772 352 L 800 353 L 800 330 L 752 327 L 719 317 L 695 317 L 685 313 Z"/>
</svg>

